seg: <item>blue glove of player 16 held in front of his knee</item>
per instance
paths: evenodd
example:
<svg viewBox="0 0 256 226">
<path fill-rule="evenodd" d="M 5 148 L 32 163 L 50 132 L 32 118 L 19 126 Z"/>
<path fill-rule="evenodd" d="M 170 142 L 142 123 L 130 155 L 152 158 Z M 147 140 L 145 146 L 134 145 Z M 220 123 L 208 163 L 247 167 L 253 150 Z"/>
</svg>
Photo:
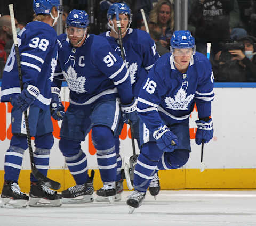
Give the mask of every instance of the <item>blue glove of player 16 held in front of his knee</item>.
<svg viewBox="0 0 256 226">
<path fill-rule="evenodd" d="M 177 136 L 166 125 L 156 130 L 153 137 L 156 139 L 159 149 L 164 152 L 173 152 L 179 144 Z"/>
</svg>

